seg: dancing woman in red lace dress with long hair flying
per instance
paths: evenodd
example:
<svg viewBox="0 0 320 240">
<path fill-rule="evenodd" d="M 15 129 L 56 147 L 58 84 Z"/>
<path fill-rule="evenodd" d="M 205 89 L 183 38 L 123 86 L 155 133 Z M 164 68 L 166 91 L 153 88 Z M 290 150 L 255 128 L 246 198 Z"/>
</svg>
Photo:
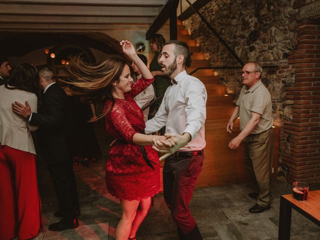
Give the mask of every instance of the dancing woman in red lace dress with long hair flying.
<svg viewBox="0 0 320 240">
<path fill-rule="evenodd" d="M 164 136 L 144 134 L 143 113 L 133 97 L 152 83 L 153 76 L 129 41 L 122 40 L 120 44 L 142 74 L 142 78 L 134 83 L 129 66 L 120 58 L 107 58 L 93 66 L 73 59 L 68 66 L 74 93 L 107 99 L 105 128 L 117 140 L 109 152 L 105 180 L 108 191 L 120 199 L 122 206 L 115 232 L 117 240 L 135 239 L 150 208 L 151 197 L 159 190 L 159 159 L 152 143 L 161 141 L 168 147 L 174 145 Z"/>
</svg>

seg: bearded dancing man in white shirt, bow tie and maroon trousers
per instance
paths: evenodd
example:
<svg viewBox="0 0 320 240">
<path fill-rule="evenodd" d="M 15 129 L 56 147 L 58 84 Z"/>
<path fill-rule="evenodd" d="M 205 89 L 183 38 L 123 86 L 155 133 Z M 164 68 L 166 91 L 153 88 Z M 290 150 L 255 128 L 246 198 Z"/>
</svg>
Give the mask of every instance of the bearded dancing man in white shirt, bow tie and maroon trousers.
<svg viewBox="0 0 320 240">
<path fill-rule="evenodd" d="M 188 207 L 194 185 L 202 169 L 206 90 L 203 83 L 184 70 L 191 57 L 185 42 L 165 43 L 159 59 L 164 76 L 173 83 L 164 94 L 155 116 L 146 122 L 145 133 L 166 128 L 166 137 L 176 143 L 174 152 L 163 167 L 163 196 L 176 222 L 179 239 L 202 239 Z M 154 148 L 164 152 L 164 145 L 155 142 Z"/>
</svg>

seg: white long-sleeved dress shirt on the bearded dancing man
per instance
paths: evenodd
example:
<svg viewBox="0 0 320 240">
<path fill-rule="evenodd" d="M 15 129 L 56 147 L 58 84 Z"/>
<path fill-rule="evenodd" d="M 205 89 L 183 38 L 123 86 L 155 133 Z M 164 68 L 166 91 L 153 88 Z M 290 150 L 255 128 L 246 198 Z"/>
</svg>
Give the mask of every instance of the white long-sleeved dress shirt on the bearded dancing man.
<svg viewBox="0 0 320 240">
<path fill-rule="evenodd" d="M 188 132 L 191 141 L 181 151 L 201 150 L 205 147 L 204 121 L 206 90 L 203 83 L 186 71 L 174 77 L 177 84 L 169 86 L 155 116 L 145 123 L 145 133 L 161 129 L 167 133 Z"/>
</svg>

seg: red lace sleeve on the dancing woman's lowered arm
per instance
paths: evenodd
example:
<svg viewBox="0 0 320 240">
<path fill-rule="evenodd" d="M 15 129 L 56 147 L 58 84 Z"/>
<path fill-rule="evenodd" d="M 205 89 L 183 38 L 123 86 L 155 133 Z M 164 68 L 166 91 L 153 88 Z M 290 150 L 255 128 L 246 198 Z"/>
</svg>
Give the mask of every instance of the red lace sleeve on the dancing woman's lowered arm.
<svg viewBox="0 0 320 240">
<path fill-rule="evenodd" d="M 109 114 L 116 131 L 126 142 L 132 143 L 133 135 L 136 133 L 136 131 L 126 118 L 124 109 L 118 105 L 114 105 Z"/>
</svg>

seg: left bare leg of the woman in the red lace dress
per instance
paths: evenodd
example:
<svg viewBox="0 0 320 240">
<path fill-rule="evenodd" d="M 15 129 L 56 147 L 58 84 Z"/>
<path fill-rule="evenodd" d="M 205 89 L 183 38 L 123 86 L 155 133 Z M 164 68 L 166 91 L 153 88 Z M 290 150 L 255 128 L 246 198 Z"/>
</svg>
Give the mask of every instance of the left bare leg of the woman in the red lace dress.
<svg viewBox="0 0 320 240">
<path fill-rule="evenodd" d="M 131 225 L 136 214 L 136 209 L 139 205 L 138 200 L 120 200 L 122 206 L 121 219 L 116 226 L 115 239 L 127 240 L 130 234 Z"/>
</svg>

